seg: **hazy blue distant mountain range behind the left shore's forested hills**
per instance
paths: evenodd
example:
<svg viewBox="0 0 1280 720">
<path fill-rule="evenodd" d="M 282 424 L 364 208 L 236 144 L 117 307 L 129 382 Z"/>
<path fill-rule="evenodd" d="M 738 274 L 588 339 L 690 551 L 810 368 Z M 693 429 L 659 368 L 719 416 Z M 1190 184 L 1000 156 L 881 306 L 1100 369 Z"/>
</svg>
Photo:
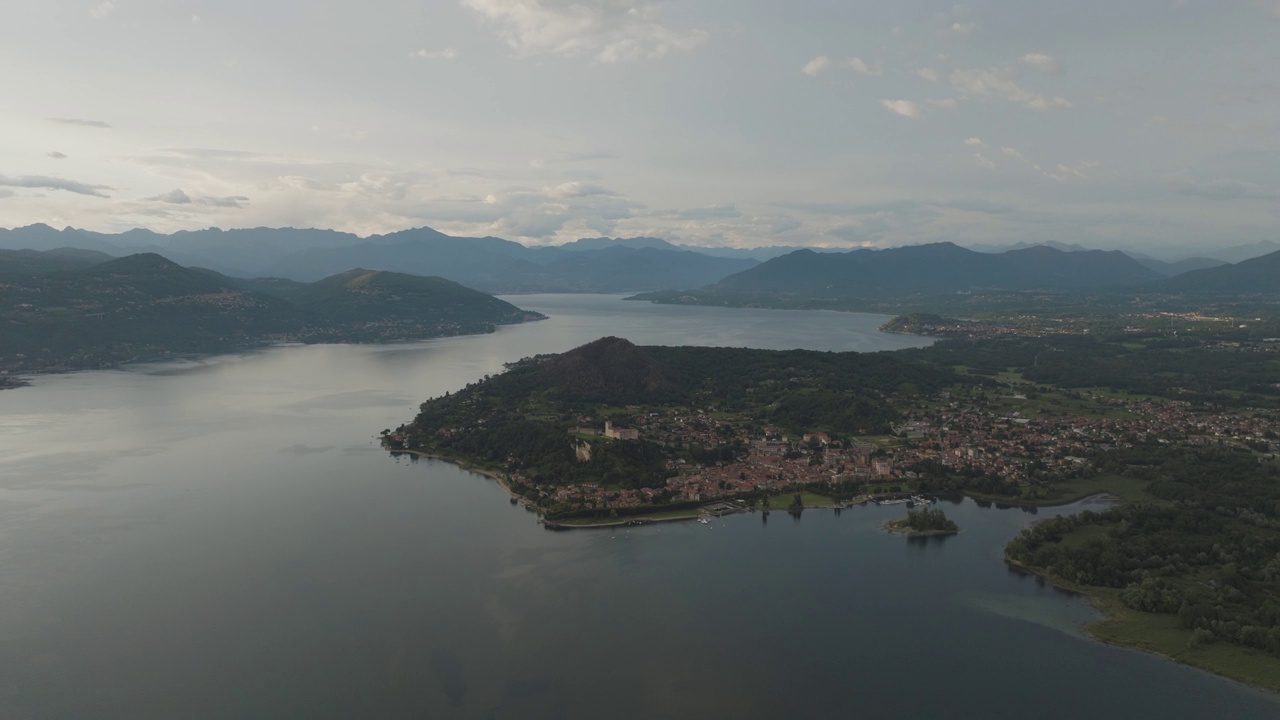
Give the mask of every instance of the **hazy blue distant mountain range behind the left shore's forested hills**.
<svg viewBox="0 0 1280 720">
<path fill-rule="evenodd" d="M 453 237 L 416 228 L 361 238 L 335 231 L 252 228 L 102 234 L 49 225 L 0 229 L 0 247 L 74 247 L 120 256 L 156 252 L 232 277 L 312 282 L 351 268 L 438 275 L 485 292 L 640 292 L 700 287 L 758 264 L 658 238 L 585 238 L 529 247 L 497 237 Z"/>
</svg>

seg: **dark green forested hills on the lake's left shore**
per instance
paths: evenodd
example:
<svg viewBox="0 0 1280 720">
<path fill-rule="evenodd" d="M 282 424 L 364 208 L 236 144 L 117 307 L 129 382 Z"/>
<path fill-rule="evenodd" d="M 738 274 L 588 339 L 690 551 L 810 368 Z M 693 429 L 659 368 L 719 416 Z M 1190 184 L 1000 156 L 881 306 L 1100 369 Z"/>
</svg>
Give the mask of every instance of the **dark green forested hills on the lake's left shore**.
<svg viewBox="0 0 1280 720">
<path fill-rule="evenodd" d="M 271 342 L 379 342 L 536 319 L 442 278 L 352 270 L 317 283 L 239 281 L 138 254 L 24 254 L 0 272 L 0 370 L 110 366 Z M 0 258 L 5 260 L 5 258 Z"/>
</svg>

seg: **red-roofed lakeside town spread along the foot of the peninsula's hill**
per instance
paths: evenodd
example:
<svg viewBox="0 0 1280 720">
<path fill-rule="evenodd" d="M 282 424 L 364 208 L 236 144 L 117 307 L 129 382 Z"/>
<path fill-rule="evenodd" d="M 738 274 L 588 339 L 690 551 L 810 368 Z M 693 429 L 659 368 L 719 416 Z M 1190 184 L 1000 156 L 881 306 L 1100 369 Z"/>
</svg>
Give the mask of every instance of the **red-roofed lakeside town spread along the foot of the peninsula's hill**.
<svg viewBox="0 0 1280 720">
<path fill-rule="evenodd" d="M 1089 456 L 1134 445 L 1229 445 L 1263 454 L 1280 448 L 1268 418 L 1197 410 L 1188 402 L 1171 400 L 1092 393 L 1079 397 L 1105 416 L 1065 413 L 1024 416 L 1011 409 L 1027 401 L 1023 393 L 986 398 L 946 392 L 928 406 L 901 409 L 906 419 L 893 425 L 895 434 L 874 438 L 838 438 L 824 432 L 787 437 L 777 428 L 767 428 L 763 437 L 750 437 L 753 423 L 748 416 L 687 407 L 645 411 L 630 406 L 626 416 L 632 427 L 579 418 L 582 425 L 570 434 L 580 462 L 591 460 L 596 443 L 639 441 L 663 447 L 730 450 L 735 459 L 705 465 L 668 460 L 669 478 L 663 488 L 614 488 L 598 483 L 534 487 L 518 471 L 506 474 L 506 482 L 526 502 L 557 512 L 716 503 L 804 489 L 826 495 L 824 488 L 831 488 L 828 493 L 833 496 L 852 497 L 852 502 L 906 502 L 911 492 L 940 473 L 984 478 L 986 486 L 1000 496 L 1034 500 L 1037 488 L 1046 483 L 1094 474 Z M 392 450 L 413 450 L 410 443 L 399 433 L 387 437 Z"/>
</svg>

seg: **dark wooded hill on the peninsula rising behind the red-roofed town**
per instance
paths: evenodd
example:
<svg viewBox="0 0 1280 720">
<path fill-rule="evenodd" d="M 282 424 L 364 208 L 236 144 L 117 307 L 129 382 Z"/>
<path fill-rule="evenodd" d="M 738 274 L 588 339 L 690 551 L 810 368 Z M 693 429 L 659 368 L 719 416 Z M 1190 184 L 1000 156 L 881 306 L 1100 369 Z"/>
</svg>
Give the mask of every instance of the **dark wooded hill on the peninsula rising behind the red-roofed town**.
<svg viewBox="0 0 1280 720">
<path fill-rule="evenodd" d="M 745 419 L 754 437 L 769 428 L 884 433 L 897 416 L 892 396 L 937 392 L 955 382 L 952 373 L 887 354 L 637 347 L 608 337 L 522 360 L 424 402 L 417 418 L 394 433 L 392 447 L 517 469 L 529 487 L 603 480 L 662 488 L 669 462 L 731 460 L 741 448 L 709 450 L 717 443 L 708 438 L 681 447 L 649 438 L 594 442 L 584 462 L 575 456 L 572 433 L 582 423 L 598 432 L 603 418 L 627 425 L 654 415 L 689 415 L 696 433 L 704 414 Z"/>
</svg>

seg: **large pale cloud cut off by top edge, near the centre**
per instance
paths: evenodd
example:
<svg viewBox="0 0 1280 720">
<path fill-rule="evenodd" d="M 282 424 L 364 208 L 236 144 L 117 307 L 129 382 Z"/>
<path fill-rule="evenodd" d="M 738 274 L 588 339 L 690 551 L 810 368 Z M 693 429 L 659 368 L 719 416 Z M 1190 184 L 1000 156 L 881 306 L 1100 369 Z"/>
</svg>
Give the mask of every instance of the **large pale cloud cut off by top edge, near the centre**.
<svg viewBox="0 0 1280 720">
<path fill-rule="evenodd" d="M 662 58 L 707 42 L 703 29 L 673 29 L 662 23 L 657 1 L 632 0 L 461 0 L 498 27 L 518 53 L 598 63 Z"/>
</svg>

